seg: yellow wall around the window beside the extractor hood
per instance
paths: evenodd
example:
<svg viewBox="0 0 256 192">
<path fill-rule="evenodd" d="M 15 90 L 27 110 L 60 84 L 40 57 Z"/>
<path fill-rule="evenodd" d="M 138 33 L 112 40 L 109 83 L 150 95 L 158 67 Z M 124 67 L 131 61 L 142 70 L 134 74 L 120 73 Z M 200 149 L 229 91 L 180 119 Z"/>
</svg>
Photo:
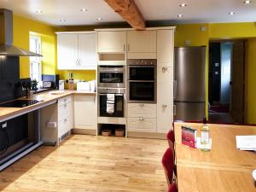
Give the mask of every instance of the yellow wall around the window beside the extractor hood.
<svg viewBox="0 0 256 192">
<path fill-rule="evenodd" d="M 14 44 L 29 49 L 29 34 L 35 32 L 42 38 L 42 72 L 55 73 L 55 27 L 14 15 Z M 30 77 L 29 57 L 20 56 L 20 78 Z"/>
</svg>

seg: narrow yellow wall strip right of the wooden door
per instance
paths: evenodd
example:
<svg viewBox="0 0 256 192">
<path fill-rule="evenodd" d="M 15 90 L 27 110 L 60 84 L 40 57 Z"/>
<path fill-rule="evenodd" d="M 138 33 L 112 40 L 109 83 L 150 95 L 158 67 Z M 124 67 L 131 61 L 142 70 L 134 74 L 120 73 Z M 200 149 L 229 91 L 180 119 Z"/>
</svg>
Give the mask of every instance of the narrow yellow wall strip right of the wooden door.
<svg viewBox="0 0 256 192">
<path fill-rule="evenodd" d="M 247 45 L 247 121 L 256 124 L 256 38 L 248 39 Z"/>
</svg>

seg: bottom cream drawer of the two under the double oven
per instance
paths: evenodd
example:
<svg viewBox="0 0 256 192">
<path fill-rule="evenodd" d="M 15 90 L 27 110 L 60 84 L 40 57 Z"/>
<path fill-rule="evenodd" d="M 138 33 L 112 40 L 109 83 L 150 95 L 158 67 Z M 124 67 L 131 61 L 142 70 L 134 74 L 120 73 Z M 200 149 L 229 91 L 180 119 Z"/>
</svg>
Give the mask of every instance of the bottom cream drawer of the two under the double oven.
<svg viewBox="0 0 256 192">
<path fill-rule="evenodd" d="M 156 119 L 128 118 L 128 131 L 156 132 Z"/>
</svg>

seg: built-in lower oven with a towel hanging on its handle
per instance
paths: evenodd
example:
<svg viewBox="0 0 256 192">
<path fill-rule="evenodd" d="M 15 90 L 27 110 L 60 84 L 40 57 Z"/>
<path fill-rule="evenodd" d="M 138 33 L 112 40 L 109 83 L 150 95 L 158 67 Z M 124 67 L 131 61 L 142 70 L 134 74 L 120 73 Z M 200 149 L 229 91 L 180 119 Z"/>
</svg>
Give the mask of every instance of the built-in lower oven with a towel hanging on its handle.
<svg viewBox="0 0 256 192">
<path fill-rule="evenodd" d="M 114 94 L 113 113 L 107 112 L 108 94 Z M 125 89 L 98 89 L 98 102 L 99 117 L 125 117 Z"/>
</svg>

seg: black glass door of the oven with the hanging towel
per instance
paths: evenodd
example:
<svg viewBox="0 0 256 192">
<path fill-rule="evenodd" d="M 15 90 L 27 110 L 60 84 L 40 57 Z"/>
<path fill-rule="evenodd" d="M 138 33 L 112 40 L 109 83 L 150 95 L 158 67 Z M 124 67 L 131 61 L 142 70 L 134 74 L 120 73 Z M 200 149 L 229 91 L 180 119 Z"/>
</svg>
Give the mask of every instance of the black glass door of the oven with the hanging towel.
<svg viewBox="0 0 256 192">
<path fill-rule="evenodd" d="M 107 94 L 100 94 L 100 116 L 101 117 L 124 117 L 124 95 L 114 96 L 114 113 L 107 113 Z"/>
</svg>

